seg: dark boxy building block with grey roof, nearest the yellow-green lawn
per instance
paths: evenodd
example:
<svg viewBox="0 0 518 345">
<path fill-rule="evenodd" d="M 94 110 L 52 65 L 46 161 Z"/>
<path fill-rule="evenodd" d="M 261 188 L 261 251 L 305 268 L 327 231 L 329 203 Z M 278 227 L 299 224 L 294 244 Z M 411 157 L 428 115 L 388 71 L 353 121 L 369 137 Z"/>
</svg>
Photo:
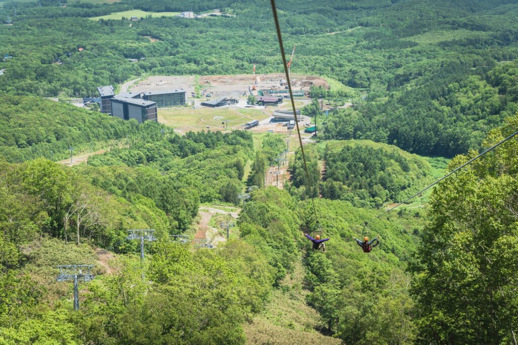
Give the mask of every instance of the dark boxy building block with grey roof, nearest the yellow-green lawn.
<svg viewBox="0 0 518 345">
<path fill-rule="evenodd" d="M 139 124 L 148 120 L 158 121 L 156 102 L 120 96 L 111 98 L 110 101 L 112 116 L 124 120 L 134 118 Z"/>
</svg>

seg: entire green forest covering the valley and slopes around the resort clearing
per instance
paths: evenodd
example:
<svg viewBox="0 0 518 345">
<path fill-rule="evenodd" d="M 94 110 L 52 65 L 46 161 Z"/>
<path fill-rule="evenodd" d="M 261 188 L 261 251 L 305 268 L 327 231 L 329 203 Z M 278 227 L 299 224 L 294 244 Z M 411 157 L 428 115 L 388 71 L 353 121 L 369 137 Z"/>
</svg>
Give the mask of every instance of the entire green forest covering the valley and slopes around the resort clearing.
<svg viewBox="0 0 518 345">
<path fill-rule="evenodd" d="M 518 2 L 277 7 L 292 71 L 335 81 L 311 88 L 308 176 L 290 145 L 284 190 L 265 186 L 281 134 L 180 136 L 63 102 L 150 75 L 282 72 L 269 3 L 0 1 L 0 344 L 516 344 L 515 138 L 375 217 L 517 130 Z M 160 17 L 216 8 L 234 16 Z M 91 19 L 132 9 L 153 13 Z M 71 146 L 102 151 L 56 162 Z M 212 206 L 236 228 L 199 248 Z M 155 230 L 145 260 L 128 229 Z M 368 254 L 364 235 L 380 237 Z M 94 265 L 79 311 L 56 281 L 70 263 Z"/>
</svg>

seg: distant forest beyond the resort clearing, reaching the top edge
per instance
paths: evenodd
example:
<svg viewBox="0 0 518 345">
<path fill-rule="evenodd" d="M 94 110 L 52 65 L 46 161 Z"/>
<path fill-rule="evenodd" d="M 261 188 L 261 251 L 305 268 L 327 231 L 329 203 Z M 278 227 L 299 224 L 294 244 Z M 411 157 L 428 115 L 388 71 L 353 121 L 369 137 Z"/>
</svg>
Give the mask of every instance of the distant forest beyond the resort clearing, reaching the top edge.
<svg viewBox="0 0 518 345">
<path fill-rule="evenodd" d="M 197 2 L 193 10 L 223 8 L 236 17 L 148 18 L 131 25 L 84 17 L 128 8 L 181 11 L 184 3 L 57 5 L 15 2 L 0 8 L 0 21 L 8 14 L 13 21 L 0 26 L 0 56 L 13 56 L 0 63 L 6 68 L 2 91 L 76 97 L 147 74 L 250 73 L 254 64 L 260 73 L 282 70 L 267 3 Z M 451 157 L 478 148 L 488 130 L 518 110 L 511 63 L 518 57 L 514 1 L 278 6 L 285 44 L 297 44 L 293 71 L 367 91 L 354 110 L 332 116 L 326 138 L 370 139 Z M 146 59 L 138 64 L 127 60 L 141 57 Z"/>
</svg>

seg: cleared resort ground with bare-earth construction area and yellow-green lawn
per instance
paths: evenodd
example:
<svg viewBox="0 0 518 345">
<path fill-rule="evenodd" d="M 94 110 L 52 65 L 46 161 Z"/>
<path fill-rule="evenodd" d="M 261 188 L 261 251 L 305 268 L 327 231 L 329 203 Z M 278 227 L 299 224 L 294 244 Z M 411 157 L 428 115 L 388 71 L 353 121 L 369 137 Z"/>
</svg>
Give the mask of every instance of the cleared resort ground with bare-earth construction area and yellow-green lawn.
<svg viewBox="0 0 518 345">
<path fill-rule="evenodd" d="M 284 78 L 283 78 L 284 77 Z M 293 74 L 292 86 L 297 110 L 311 102 L 308 92 L 311 85 L 329 85 L 324 78 Z M 249 122 L 258 121 L 250 128 L 254 132 L 288 133 L 287 123 L 281 121 L 280 112 L 291 112 L 291 102 L 284 74 L 238 74 L 235 76 L 154 76 L 133 81 L 124 92 L 138 94 L 145 91 L 161 92 L 171 88 L 185 90 L 183 107 L 161 108 L 158 121 L 174 128 L 178 133 L 200 130 L 244 129 Z M 257 104 L 248 104 L 253 95 Z M 275 114 L 274 114 L 275 113 Z M 276 115 L 277 114 L 277 115 Z M 309 119 L 299 116 L 301 126 Z"/>
</svg>

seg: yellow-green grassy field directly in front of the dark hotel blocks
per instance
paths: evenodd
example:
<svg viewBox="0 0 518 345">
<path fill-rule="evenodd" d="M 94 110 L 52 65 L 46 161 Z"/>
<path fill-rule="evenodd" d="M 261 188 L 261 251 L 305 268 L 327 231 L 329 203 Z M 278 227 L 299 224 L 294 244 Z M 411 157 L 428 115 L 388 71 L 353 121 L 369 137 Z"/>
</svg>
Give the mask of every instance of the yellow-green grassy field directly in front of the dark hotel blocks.
<svg viewBox="0 0 518 345">
<path fill-rule="evenodd" d="M 214 109 L 200 107 L 197 109 L 165 109 L 159 110 L 159 122 L 176 128 L 182 132 L 189 130 L 199 131 L 210 126 L 211 129 L 221 130 L 223 121 L 228 121 L 228 127 L 239 128 L 254 119 L 259 121 L 268 117 L 268 114 L 249 109 Z"/>
</svg>

